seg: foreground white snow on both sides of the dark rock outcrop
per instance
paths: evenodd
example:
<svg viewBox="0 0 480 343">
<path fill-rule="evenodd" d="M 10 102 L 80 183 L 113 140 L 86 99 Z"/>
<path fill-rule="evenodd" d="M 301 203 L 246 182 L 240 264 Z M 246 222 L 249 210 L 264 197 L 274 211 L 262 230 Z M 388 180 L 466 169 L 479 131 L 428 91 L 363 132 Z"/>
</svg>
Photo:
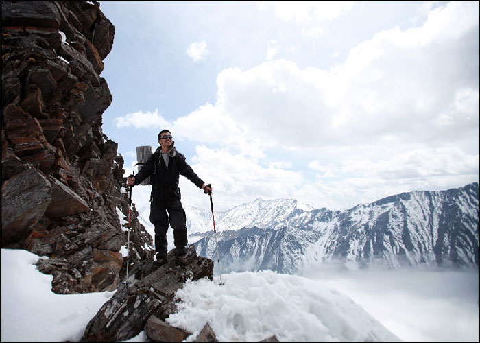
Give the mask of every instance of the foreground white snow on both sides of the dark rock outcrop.
<svg viewBox="0 0 480 343">
<path fill-rule="evenodd" d="M 54 294 L 52 276 L 38 272 L 37 261 L 25 250 L 1 250 L 2 342 L 80 340 L 113 292 Z M 317 281 L 249 272 L 230 274 L 224 282 L 187 281 L 176 294 L 178 314 L 166 321 L 193 333 L 187 341 L 206 323 L 219 341 L 260 341 L 272 335 L 283 341 L 399 340 L 351 298 Z M 129 341 L 148 340 L 141 331 Z"/>
</svg>

